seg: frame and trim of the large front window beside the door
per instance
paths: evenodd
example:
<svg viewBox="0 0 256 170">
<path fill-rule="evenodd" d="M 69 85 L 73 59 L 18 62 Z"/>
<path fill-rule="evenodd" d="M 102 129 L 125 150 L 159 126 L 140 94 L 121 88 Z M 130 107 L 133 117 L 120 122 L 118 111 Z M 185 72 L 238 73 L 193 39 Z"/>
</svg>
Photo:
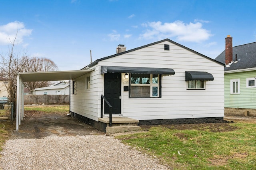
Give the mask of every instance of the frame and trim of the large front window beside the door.
<svg viewBox="0 0 256 170">
<path fill-rule="evenodd" d="M 144 73 L 143 73 L 144 74 Z M 162 75 L 161 74 L 156 74 L 158 75 L 158 83 L 153 83 L 153 74 L 150 75 L 150 83 L 149 84 L 132 84 L 131 83 L 131 77 L 132 73 L 129 74 L 129 98 L 131 99 L 143 99 L 143 98 L 161 98 L 162 97 Z M 150 97 L 131 97 L 131 86 L 149 86 L 150 87 Z M 153 95 L 153 87 L 158 87 L 158 96 L 152 96 Z"/>
</svg>

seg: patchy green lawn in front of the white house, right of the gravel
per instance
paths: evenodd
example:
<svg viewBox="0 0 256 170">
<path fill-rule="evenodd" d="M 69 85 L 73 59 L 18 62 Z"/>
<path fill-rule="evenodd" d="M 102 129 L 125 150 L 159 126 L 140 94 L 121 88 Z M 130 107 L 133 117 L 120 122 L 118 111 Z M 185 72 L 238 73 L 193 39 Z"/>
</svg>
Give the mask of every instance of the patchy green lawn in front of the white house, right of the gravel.
<svg viewBox="0 0 256 170">
<path fill-rule="evenodd" d="M 174 169 L 256 169 L 255 124 L 228 123 L 225 130 L 220 125 L 220 130 L 214 131 L 210 124 L 203 126 L 184 130 L 157 126 L 148 133 L 117 138 Z"/>
</svg>

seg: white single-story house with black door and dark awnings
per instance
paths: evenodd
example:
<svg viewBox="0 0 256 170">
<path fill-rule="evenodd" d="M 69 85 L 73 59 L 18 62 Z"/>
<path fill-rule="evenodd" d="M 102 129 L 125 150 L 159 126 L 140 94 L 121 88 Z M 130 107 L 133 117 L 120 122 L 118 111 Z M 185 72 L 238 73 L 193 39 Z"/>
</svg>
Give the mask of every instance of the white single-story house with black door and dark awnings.
<svg viewBox="0 0 256 170">
<path fill-rule="evenodd" d="M 224 117 L 224 64 L 169 39 L 97 59 L 72 79 L 70 112 L 96 126 L 108 117 L 140 121 Z"/>
</svg>

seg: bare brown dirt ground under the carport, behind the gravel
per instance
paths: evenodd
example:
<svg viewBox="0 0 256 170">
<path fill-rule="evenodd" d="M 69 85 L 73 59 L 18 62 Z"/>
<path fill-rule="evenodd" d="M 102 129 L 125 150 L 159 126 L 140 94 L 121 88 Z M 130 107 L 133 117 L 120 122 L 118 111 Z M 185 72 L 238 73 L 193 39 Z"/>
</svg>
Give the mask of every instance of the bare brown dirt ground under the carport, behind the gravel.
<svg viewBox="0 0 256 170">
<path fill-rule="evenodd" d="M 18 131 L 12 133 L 12 138 L 44 138 L 50 135 L 82 136 L 98 135 L 103 132 L 90 127 L 66 113 L 48 114 L 38 111 L 25 111 Z"/>
</svg>

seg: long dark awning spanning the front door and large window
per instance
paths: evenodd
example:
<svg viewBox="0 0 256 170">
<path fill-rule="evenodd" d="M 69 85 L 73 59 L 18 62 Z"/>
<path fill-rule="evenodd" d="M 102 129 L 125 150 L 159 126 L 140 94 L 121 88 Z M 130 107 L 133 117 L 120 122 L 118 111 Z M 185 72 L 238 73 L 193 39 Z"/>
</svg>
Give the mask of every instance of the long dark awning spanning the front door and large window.
<svg viewBox="0 0 256 170">
<path fill-rule="evenodd" d="M 101 66 L 101 74 L 104 73 L 148 73 L 174 75 L 175 71 L 169 68 L 150 68 L 150 67 L 120 67 L 120 66 Z"/>
</svg>

